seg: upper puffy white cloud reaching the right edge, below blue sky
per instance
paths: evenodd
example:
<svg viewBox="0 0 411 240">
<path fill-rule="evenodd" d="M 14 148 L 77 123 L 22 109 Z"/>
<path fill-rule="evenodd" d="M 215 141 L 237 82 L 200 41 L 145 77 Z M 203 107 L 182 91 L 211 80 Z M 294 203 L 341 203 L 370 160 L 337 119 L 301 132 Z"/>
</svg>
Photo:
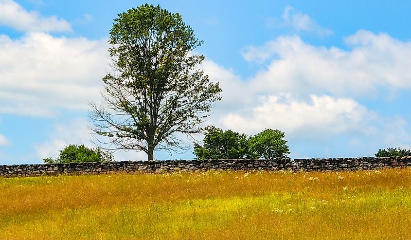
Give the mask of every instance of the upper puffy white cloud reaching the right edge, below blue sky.
<svg viewBox="0 0 411 240">
<path fill-rule="evenodd" d="M 317 47 L 300 37 L 278 37 L 243 53 L 248 61 L 267 61 L 250 86 L 260 93 L 316 93 L 361 96 L 411 88 L 411 42 L 364 30 L 347 37 L 350 50 Z"/>
</svg>

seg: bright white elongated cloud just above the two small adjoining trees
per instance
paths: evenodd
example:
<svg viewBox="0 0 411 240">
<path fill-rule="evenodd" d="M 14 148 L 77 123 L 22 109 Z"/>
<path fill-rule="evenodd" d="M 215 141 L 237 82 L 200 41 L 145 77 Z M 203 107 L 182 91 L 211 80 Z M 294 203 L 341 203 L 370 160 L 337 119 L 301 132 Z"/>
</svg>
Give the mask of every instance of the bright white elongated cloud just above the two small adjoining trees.
<svg viewBox="0 0 411 240">
<path fill-rule="evenodd" d="M 225 128 L 258 133 L 264 128 L 281 129 L 289 135 L 315 134 L 315 138 L 361 132 L 371 111 L 353 99 L 311 95 L 308 101 L 292 94 L 269 95 L 248 111 L 229 113 L 222 118 Z"/>
</svg>

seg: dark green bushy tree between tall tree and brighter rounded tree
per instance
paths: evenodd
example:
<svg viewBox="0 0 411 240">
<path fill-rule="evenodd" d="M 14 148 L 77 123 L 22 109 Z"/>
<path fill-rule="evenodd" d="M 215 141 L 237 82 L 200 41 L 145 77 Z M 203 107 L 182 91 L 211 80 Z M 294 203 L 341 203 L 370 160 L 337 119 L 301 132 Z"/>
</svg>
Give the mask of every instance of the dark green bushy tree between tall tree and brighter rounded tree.
<svg viewBox="0 0 411 240">
<path fill-rule="evenodd" d="M 194 154 L 197 159 L 253 158 L 246 134 L 232 130 L 223 131 L 214 126 L 207 127 L 206 131 L 204 145 L 194 143 Z"/>
</svg>

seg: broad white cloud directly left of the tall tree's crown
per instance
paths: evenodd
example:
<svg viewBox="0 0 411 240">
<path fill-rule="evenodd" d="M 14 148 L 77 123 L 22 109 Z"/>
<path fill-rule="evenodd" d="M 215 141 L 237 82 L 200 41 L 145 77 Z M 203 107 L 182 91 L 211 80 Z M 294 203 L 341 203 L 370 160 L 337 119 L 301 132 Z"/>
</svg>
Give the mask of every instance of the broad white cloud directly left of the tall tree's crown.
<svg viewBox="0 0 411 240">
<path fill-rule="evenodd" d="M 108 44 L 83 37 L 0 35 L 0 112 L 53 115 L 54 108 L 87 109 L 100 98 Z"/>
</svg>

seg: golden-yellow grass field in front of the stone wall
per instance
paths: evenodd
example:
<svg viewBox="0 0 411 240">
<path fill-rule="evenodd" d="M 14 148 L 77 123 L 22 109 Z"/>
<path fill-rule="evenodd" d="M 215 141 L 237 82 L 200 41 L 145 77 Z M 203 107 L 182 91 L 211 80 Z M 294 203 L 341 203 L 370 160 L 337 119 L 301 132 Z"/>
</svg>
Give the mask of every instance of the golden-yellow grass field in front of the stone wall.
<svg viewBox="0 0 411 240">
<path fill-rule="evenodd" d="M 411 168 L 0 179 L 0 239 L 410 239 Z"/>
</svg>

